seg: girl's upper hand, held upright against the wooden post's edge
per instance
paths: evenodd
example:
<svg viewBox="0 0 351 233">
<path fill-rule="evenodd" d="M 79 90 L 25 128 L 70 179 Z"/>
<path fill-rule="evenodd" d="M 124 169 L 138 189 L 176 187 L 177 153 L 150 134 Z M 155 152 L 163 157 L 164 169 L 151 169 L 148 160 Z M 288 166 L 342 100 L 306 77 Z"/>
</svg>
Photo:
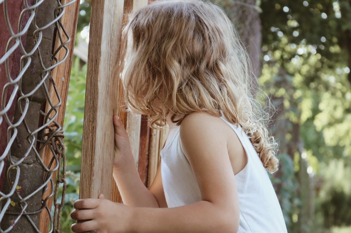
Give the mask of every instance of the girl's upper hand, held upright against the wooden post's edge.
<svg viewBox="0 0 351 233">
<path fill-rule="evenodd" d="M 118 115 L 113 115 L 114 125 L 114 160 L 113 167 L 118 167 L 126 156 L 132 156 L 131 146 L 127 131 L 124 129 Z"/>
</svg>

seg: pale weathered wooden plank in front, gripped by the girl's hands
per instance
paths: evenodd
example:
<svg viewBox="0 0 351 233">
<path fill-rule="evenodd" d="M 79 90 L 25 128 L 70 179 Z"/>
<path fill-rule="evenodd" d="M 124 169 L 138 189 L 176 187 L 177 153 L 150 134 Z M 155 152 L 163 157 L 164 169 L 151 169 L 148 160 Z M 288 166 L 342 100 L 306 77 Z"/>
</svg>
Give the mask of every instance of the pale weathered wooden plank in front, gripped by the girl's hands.
<svg viewBox="0 0 351 233">
<path fill-rule="evenodd" d="M 124 0 L 92 0 L 80 198 L 112 194 L 117 64 Z"/>
</svg>

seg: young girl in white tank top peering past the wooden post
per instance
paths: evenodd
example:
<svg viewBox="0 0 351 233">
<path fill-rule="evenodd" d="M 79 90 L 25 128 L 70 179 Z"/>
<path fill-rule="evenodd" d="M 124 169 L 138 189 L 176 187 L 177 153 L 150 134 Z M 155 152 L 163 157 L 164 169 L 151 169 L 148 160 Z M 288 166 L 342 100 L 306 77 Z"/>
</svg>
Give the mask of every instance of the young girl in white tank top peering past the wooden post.
<svg viewBox="0 0 351 233">
<path fill-rule="evenodd" d="M 151 3 L 123 32 L 129 109 L 167 123 L 149 189 L 115 115 L 113 175 L 123 203 L 81 199 L 74 232 L 286 232 L 267 174 L 278 160 L 253 100 L 248 58 L 223 10 L 201 0 Z"/>
</svg>

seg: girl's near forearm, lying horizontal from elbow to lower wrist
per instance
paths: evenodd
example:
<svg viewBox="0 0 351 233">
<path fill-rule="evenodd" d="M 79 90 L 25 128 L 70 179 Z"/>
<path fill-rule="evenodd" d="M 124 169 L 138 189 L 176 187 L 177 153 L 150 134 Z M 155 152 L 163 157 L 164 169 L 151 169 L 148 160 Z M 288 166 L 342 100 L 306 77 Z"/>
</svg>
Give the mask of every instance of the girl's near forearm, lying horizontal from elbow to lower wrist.
<svg viewBox="0 0 351 233">
<path fill-rule="evenodd" d="M 239 226 L 238 211 L 204 200 L 175 208 L 132 208 L 131 211 L 127 232 L 227 233 L 237 232 Z"/>
</svg>

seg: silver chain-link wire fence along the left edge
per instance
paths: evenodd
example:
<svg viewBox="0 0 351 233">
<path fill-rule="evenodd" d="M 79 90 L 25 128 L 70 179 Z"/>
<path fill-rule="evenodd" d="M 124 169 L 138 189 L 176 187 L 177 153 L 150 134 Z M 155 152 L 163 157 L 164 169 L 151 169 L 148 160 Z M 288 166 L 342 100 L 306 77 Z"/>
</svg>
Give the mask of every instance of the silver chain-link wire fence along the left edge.
<svg viewBox="0 0 351 233">
<path fill-rule="evenodd" d="M 74 1 L 0 0 L 0 232 L 40 232 L 43 211 L 60 232 L 65 147 L 50 73 L 68 57 L 60 19 Z"/>
</svg>

